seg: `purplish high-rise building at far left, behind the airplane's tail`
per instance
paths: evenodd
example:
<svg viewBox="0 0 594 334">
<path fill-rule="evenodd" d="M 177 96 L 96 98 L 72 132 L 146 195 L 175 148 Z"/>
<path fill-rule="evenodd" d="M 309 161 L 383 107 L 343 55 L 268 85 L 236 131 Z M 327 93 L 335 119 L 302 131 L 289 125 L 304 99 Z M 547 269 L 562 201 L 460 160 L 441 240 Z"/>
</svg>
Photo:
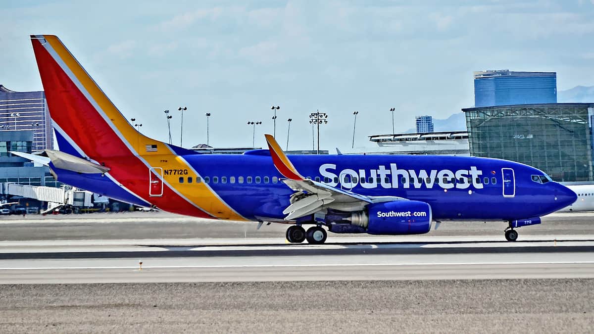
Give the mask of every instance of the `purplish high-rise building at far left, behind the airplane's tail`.
<svg viewBox="0 0 594 334">
<path fill-rule="evenodd" d="M 53 136 L 44 92 L 14 92 L 0 85 L 0 131 L 33 130 L 31 150 L 52 149 Z"/>
</svg>

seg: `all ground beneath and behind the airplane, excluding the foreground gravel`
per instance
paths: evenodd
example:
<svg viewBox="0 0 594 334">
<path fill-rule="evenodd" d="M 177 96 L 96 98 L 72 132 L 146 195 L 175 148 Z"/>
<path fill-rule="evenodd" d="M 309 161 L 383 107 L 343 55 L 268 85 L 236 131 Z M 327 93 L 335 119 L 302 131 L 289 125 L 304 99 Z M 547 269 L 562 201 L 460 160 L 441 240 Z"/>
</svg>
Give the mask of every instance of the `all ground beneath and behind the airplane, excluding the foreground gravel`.
<svg viewBox="0 0 594 334">
<path fill-rule="evenodd" d="M 415 236 L 330 234 L 324 245 L 287 244 L 285 225 L 160 212 L 9 217 L 0 219 L 0 283 L 594 278 L 591 217 L 545 217 L 517 242 L 503 240 L 501 223 L 457 222 Z M 208 237 L 178 238 L 192 229 Z"/>
</svg>

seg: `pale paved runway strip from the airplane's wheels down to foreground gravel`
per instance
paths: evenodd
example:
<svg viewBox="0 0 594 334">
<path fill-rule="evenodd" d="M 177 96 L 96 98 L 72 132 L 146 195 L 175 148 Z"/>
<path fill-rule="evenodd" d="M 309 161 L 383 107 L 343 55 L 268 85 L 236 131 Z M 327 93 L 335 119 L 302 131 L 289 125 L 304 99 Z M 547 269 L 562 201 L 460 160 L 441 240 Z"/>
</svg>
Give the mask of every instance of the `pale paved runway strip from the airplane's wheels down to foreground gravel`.
<svg viewBox="0 0 594 334">
<path fill-rule="evenodd" d="M 5 241 L 0 242 L 0 283 L 594 278 L 594 235 L 514 243 L 454 239 L 342 237 L 340 243 L 325 245 L 267 239 L 239 245 L 199 239 L 177 244 Z"/>
</svg>

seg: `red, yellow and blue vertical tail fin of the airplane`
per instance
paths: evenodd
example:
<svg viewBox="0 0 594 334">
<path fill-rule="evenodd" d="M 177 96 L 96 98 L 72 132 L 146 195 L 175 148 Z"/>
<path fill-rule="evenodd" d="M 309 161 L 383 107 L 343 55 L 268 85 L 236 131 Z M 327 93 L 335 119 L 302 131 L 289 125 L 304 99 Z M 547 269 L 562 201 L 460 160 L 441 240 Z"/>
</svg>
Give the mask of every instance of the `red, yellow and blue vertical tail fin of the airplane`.
<svg viewBox="0 0 594 334">
<path fill-rule="evenodd" d="M 97 161 L 176 149 L 132 127 L 58 37 L 31 35 L 31 43 L 61 149 Z"/>
</svg>

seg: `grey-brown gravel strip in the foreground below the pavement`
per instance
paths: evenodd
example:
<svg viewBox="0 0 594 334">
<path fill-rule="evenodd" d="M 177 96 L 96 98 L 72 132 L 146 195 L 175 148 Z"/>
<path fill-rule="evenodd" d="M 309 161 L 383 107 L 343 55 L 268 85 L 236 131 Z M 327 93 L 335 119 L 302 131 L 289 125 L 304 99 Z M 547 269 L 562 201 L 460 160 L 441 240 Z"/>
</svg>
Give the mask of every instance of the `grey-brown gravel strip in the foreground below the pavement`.
<svg viewBox="0 0 594 334">
<path fill-rule="evenodd" d="M 0 332 L 592 333 L 594 280 L 0 286 Z"/>
</svg>

